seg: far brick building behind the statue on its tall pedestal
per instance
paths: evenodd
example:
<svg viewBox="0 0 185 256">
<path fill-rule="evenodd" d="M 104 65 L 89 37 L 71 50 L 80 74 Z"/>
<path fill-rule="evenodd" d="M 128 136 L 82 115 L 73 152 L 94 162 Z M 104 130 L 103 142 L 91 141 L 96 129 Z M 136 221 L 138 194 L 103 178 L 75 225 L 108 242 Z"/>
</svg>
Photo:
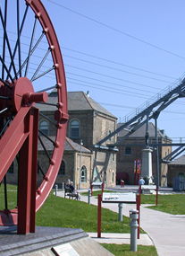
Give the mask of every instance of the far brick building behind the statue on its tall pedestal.
<svg viewBox="0 0 185 256">
<path fill-rule="evenodd" d="M 156 143 L 156 128 L 151 122 L 148 123 L 149 139 L 148 144 Z M 121 140 L 127 131 L 122 130 L 117 135 L 117 140 Z M 170 144 L 172 140 L 164 134 L 164 130 L 157 131 L 158 133 L 158 143 L 159 144 Z M 138 130 L 136 130 L 130 137 L 127 137 L 122 144 L 119 146 L 119 152 L 117 153 L 117 182 L 121 179 L 125 180 L 127 184 L 134 184 L 134 161 L 142 159 L 142 149 L 145 148 L 145 135 L 146 135 L 146 125 L 143 125 Z M 172 152 L 172 146 L 159 146 L 159 185 L 167 185 L 167 163 L 163 163 L 162 159 L 167 154 Z M 141 162 L 142 164 L 142 162 Z M 154 182 L 156 182 L 156 149 L 153 148 L 152 153 L 152 170 Z M 136 179 L 137 180 L 137 179 Z"/>
</svg>

